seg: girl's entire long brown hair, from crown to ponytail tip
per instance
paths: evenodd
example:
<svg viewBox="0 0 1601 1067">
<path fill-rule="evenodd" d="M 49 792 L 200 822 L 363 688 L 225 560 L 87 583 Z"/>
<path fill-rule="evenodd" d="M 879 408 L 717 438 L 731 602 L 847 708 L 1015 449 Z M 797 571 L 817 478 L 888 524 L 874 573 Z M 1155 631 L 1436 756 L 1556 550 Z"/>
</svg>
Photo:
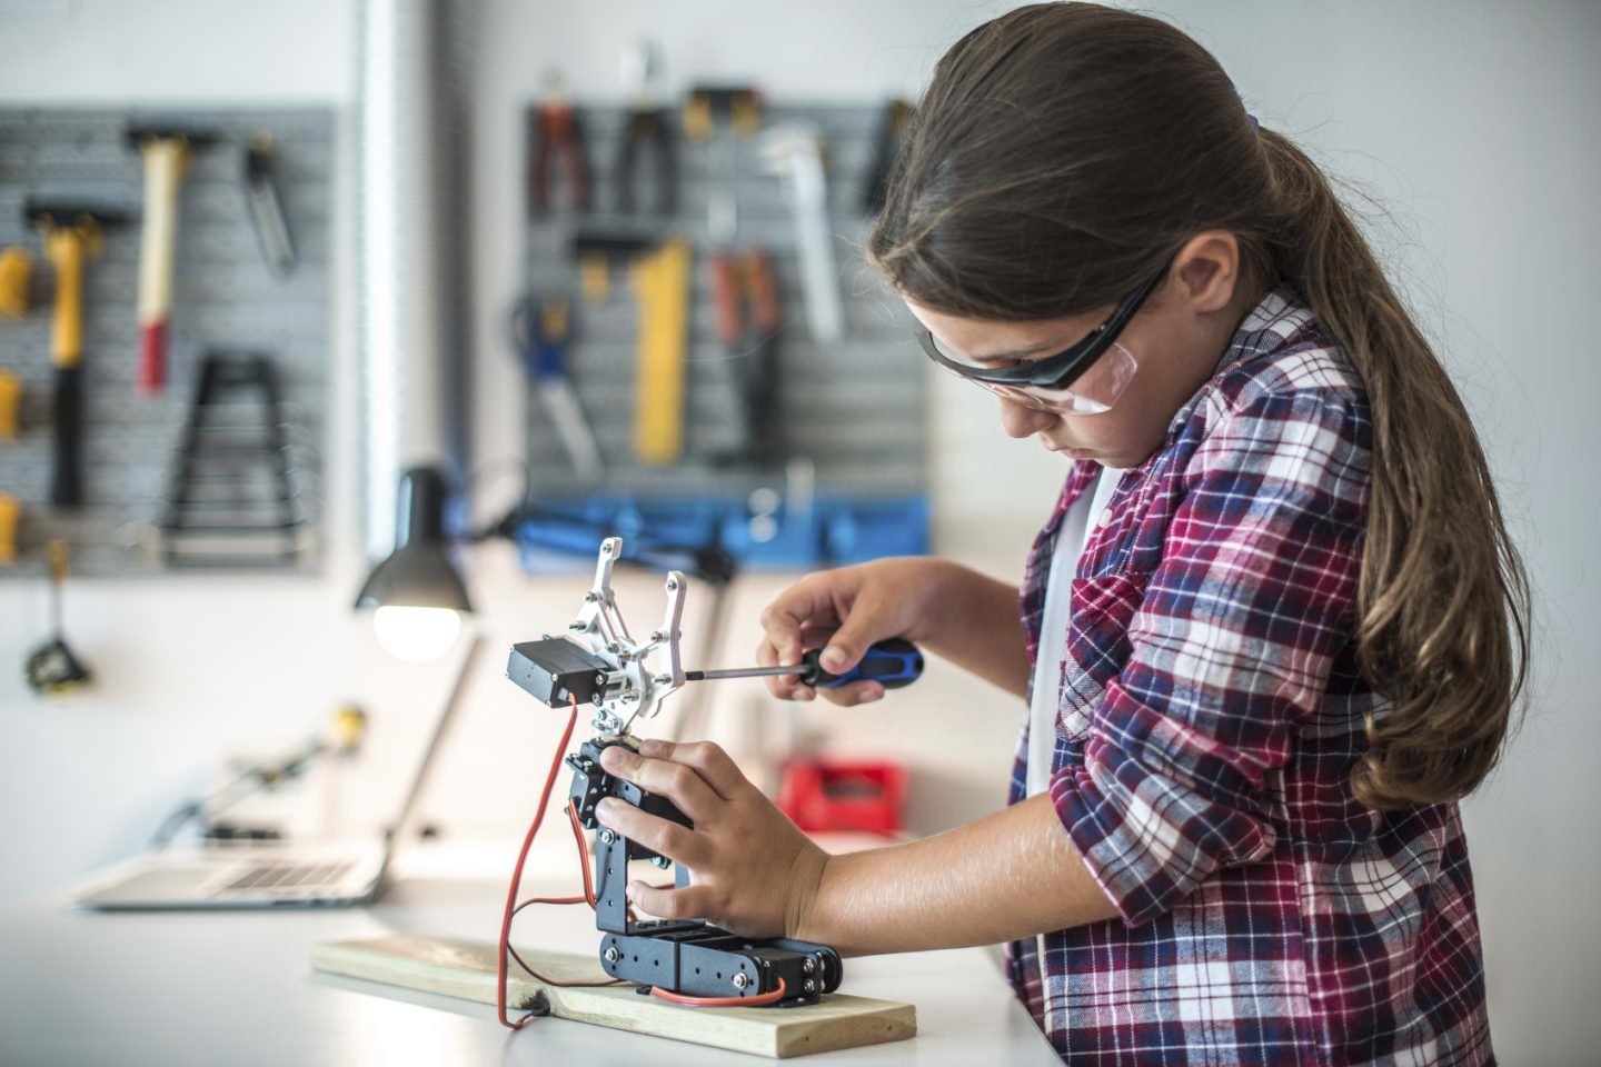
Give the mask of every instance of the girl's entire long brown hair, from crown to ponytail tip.
<svg viewBox="0 0 1601 1067">
<path fill-rule="evenodd" d="M 1306 299 L 1367 389 L 1356 640 L 1388 707 L 1354 793 L 1457 798 L 1495 765 L 1523 693 L 1527 577 L 1467 410 L 1367 240 L 1210 53 L 1092 3 L 980 26 L 935 67 L 868 254 L 925 307 L 1034 322 L 1114 304 L 1209 229 L 1238 235 L 1242 283 Z"/>
</svg>

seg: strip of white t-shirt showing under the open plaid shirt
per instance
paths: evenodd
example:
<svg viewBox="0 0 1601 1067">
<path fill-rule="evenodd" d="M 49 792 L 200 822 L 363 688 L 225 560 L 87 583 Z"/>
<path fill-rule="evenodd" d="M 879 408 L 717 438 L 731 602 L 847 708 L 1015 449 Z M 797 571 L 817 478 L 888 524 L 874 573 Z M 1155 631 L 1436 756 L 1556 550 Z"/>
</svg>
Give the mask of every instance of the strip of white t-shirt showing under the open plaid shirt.
<svg viewBox="0 0 1601 1067">
<path fill-rule="evenodd" d="M 1061 653 L 1068 646 L 1073 614 L 1073 576 L 1090 531 L 1106 515 L 1122 470 L 1101 467 L 1092 493 L 1073 501 L 1057 528 L 1045 579 L 1045 611 L 1039 621 L 1039 654 L 1034 657 L 1034 694 L 1028 704 L 1028 795 L 1050 787 L 1050 763 L 1057 750 L 1057 705 L 1061 702 Z"/>
</svg>

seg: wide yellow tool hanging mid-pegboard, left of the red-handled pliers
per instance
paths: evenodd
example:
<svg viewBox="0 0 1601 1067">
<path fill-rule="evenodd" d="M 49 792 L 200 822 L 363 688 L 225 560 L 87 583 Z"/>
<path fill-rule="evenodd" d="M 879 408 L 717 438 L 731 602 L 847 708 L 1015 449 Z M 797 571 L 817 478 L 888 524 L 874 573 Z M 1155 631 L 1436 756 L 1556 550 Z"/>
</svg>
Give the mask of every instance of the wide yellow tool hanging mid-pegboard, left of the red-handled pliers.
<svg viewBox="0 0 1601 1067">
<path fill-rule="evenodd" d="M 634 261 L 639 341 L 634 373 L 634 458 L 664 466 L 684 451 L 690 243 L 669 240 Z"/>
</svg>

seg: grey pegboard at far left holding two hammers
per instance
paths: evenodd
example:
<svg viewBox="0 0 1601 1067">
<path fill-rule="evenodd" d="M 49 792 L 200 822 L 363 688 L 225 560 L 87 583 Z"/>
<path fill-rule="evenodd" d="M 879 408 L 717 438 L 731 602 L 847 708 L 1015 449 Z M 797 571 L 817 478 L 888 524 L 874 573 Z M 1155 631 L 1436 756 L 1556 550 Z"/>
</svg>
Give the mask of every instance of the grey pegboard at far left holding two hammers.
<svg viewBox="0 0 1601 1067">
<path fill-rule="evenodd" d="M 139 122 L 218 134 L 215 144 L 195 149 L 179 190 L 167 386 L 157 395 L 134 382 L 144 168 L 125 130 Z M 295 269 L 282 278 L 267 267 L 245 202 L 243 157 L 258 134 L 272 138 L 277 189 L 296 251 Z M 21 558 L 0 566 L 0 577 L 37 574 L 48 537 L 69 542 L 74 576 L 171 568 L 158 526 L 199 366 L 216 350 L 271 357 L 298 517 L 291 566 L 319 569 L 331 381 L 331 176 L 333 117 L 325 110 L 0 110 L 0 246 L 24 248 L 35 275 L 30 312 L 22 320 L 0 318 L 0 368 L 19 374 L 24 386 L 19 437 L 0 442 L 0 491 L 22 506 Z M 91 200 L 128 219 L 104 230 L 101 253 L 85 270 L 85 499 L 72 510 L 50 507 L 54 272 L 38 232 L 22 218 L 29 198 Z"/>
</svg>

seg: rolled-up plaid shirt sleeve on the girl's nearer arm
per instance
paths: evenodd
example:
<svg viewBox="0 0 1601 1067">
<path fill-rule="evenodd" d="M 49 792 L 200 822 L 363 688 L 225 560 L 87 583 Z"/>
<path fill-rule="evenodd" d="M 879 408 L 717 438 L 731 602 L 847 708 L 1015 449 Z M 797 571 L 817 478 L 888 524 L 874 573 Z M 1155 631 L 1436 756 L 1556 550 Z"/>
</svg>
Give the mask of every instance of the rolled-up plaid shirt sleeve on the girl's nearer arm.
<svg viewBox="0 0 1601 1067">
<path fill-rule="evenodd" d="M 1367 501 L 1359 397 L 1268 392 L 1193 453 L 1057 814 L 1124 921 L 1265 857 L 1273 773 L 1351 640 Z"/>
</svg>

